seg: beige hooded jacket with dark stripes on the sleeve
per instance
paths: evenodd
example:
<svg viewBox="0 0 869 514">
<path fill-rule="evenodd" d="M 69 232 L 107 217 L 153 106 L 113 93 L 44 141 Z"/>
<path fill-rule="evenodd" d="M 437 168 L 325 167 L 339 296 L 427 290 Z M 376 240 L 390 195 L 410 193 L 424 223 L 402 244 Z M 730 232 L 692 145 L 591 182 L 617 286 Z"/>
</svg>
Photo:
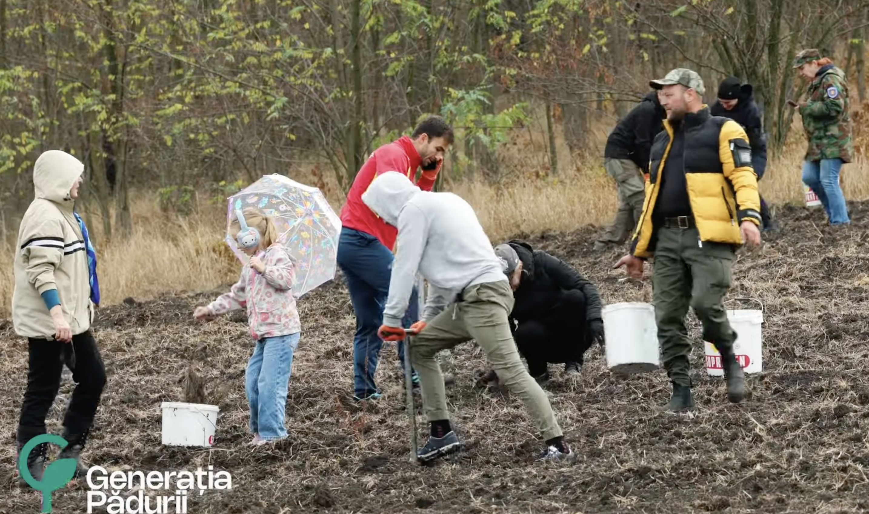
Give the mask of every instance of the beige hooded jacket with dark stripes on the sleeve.
<svg viewBox="0 0 869 514">
<path fill-rule="evenodd" d="M 56 289 L 72 334 L 90 328 L 88 255 L 73 215 L 70 190 L 84 164 L 65 151 L 43 152 L 33 167 L 36 198 L 18 229 L 12 323 L 22 337 L 54 339 L 54 323 L 42 293 Z"/>
</svg>

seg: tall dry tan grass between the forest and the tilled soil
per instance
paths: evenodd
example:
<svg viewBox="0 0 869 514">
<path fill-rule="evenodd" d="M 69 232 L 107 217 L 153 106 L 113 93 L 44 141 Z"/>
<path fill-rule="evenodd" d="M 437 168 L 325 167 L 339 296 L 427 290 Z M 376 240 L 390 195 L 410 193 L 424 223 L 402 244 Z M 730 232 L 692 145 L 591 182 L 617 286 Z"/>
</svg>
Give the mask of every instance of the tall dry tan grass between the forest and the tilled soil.
<svg viewBox="0 0 869 514">
<path fill-rule="evenodd" d="M 869 147 L 861 120 L 866 110 L 855 111 L 858 161 L 846 164 L 842 187 L 849 200 L 869 198 Z M 602 155 L 612 122 L 600 121 L 589 132 L 593 148 L 587 155 Z M 799 117 L 782 155 L 771 159 L 760 191 L 773 204 L 799 204 L 803 199 L 801 176 L 805 139 Z M 615 186 L 603 170 L 602 159 L 572 156 L 557 132 L 560 174 L 547 177 L 548 157 L 541 127 L 515 130 L 502 146 L 499 159 L 504 180 L 491 185 L 481 180 L 457 181 L 449 189 L 474 205 L 489 237 L 500 241 L 516 232 L 574 230 L 587 224 L 607 224 L 618 207 Z M 314 184 L 308 172 L 292 177 Z M 541 177 L 542 176 L 542 177 Z M 335 211 L 343 197 L 328 184 L 329 201 Z M 153 192 L 137 191 L 133 204 L 136 220 L 129 241 L 98 245 L 100 281 L 105 304 L 124 297 L 153 298 L 163 292 L 202 290 L 235 278 L 237 265 L 222 243 L 224 207 L 202 201 L 189 217 L 167 216 L 150 201 Z M 89 226 L 102 239 L 96 221 Z M 10 230 L 15 233 L 17 230 Z M 14 244 L 14 243 L 13 243 Z M 12 245 L 0 247 L 0 312 L 10 309 L 12 294 Z"/>
</svg>

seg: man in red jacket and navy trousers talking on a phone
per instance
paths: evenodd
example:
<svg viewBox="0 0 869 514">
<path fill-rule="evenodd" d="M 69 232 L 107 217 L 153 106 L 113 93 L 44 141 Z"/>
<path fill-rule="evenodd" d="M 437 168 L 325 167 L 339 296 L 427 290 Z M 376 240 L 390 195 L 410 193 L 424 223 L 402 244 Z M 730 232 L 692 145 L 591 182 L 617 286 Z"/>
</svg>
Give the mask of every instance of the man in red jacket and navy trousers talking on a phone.
<svg viewBox="0 0 869 514">
<path fill-rule="evenodd" d="M 353 396 L 356 400 L 381 397 L 374 380 L 382 344 L 377 330 L 382 323 L 383 307 L 389 293 L 397 233 L 395 227 L 386 224 L 362 203 L 362 193 L 377 176 L 387 171 L 404 173 L 421 190 L 432 190 L 450 144 L 453 144 L 453 130 L 449 124 L 438 116 L 427 117 L 416 126 L 410 137 L 402 136 L 384 144 L 368 157 L 356 174 L 342 207 L 337 262 L 356 313 L 353 338 Z M 422 174 L 416 181 L 419 167 Z M 402 320 L 403 328 L 409 328 L 419 317 L 417 295 L 418 291 L 414 290 Z M 404 345 L 401 343 L 398 352 L 399 358 L 403 359 Z M 416 372 L 414 381 L 415 384 L 418 382 Z"/>
</svg>

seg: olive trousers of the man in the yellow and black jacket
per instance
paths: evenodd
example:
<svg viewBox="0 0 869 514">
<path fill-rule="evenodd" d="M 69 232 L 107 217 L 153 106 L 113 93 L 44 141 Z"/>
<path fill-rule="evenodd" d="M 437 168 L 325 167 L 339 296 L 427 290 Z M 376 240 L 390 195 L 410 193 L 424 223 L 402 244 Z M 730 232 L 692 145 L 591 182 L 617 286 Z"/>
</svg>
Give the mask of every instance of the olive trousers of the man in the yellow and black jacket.
<svg viewBox="0 0 869 514">
<path fill-rule="evenodd" d="M 703 339 L 722 355 L 733 353 L 736 334 L 722 299 L 730 288 L 733 246 L 704 242 L 696 228 L 660 228 L 654 248 L 652 289 L 661 361 L 674 384 L 691 385 L 692 343 L 685 316 L 692 307 L 703 324 Z"/>
</svg>

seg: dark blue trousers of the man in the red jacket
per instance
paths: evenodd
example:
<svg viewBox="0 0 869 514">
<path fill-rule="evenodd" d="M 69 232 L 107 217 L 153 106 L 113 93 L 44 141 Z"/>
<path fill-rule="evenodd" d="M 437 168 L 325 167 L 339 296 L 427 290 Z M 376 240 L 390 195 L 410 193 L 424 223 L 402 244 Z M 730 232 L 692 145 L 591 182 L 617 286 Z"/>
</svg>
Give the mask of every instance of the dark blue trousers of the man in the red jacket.
<svg viewBox="0 0 869 514">
<path fill-rule="evenodd" d="M 350 292 L 350 302 L 356 313 L 356 333 L 353 337 L 353 394 L 368 397 L 380 392 L 375 384 L 375 371 L 383 341 L 377 335 L 383 323 L 383 308 L 389 294 L 389 277 L 395 257 L 377 237 L 360 230 L 342 228 L 338 240 L 337 262 L 344 273 Z M 410 295 L 410 304 L 401 319 L 408 328 L 419 319 L 418 293 Z M 398 357 L 404 362 L 404 344 L 398 343 Z"/>
</svg>

